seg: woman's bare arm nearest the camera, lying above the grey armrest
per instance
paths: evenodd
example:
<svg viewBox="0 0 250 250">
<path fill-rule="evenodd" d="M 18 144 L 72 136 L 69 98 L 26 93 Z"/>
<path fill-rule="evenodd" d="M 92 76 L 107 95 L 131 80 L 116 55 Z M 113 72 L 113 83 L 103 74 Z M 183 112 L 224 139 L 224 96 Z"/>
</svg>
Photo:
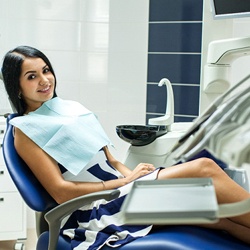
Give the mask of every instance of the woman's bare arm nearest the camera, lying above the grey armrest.
<svg viewBox="0 0 250 250">
<path fill-rule="evenodd" d="M 126 179 L 105 182 L 72 182 L 64 180 L 57 162 L 29 139 L 21 130 L 15 128 L 15 148 L 33 174 L 55 199 L 63 203 L 85 194 L 114 189 L 127 184 Z"/>
</svg>

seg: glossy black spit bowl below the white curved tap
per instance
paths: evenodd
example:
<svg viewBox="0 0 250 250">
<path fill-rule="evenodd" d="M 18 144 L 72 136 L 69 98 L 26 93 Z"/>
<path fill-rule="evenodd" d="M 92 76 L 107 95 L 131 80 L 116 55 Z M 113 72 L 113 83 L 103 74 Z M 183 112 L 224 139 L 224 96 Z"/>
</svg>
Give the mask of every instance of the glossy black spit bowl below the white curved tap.
<svg viewBox="0 0 250 250">
<path fill-rule="evenodd" d="M 157 125 L 119 125 L 116 133 L 124 141 L 133 146 L 145 146 L 153 142 L 157 137 L 168 132 L 167 126 Z"/>
</svg>

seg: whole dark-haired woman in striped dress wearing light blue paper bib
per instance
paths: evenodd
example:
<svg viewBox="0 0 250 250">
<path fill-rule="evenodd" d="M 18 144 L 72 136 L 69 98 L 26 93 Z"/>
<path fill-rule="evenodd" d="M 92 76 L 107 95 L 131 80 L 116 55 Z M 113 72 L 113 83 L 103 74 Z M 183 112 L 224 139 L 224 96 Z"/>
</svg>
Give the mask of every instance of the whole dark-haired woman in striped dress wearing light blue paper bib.
<svg viewBox="0 0 250 250">
<path fill-rule="evenodd" d="M 23 46 L 8 52 L 2 73 L 19 114 L 10 121 L 15 149 L 54 200 L 63 203 L 97 191 L 120 191 L 118 198 L 84 205 L 64 221 L 61 234 L 71 239 L 73 249 L 118 247 L 152 232 L 154 225 L 124 224 L 120 208 L 135 181 L 210 177 L 219 204 L 250 198 L 211 159 L 168 168 L 140 163 L 133 170 L 116 160 L 96 116 L 80 103 L 56 96 L 56 77 L 42 52 Z M 250 244 L 250 213 L 202 226 L 228 231 Z"/>
</svg>

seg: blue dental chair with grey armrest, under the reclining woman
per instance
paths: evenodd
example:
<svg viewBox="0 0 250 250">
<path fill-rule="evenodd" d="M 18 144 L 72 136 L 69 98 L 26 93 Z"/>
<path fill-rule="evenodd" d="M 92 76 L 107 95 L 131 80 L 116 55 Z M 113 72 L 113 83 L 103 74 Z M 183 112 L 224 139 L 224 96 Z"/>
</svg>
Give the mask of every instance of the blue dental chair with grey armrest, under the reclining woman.
<svg viewBox="0 0 250 250">
<path fill-rule="evenodd" d="M 12 126 L 8 123 L 15 114 L 7 118 L 7 129 L 3 141 L 6 166 L 26 204 L 37 211 L 37 250 L 70 250 L 70 239 L 59 235 L 62 218 L 82 206 L 100 198 L 113 199 L 119 191 L 103 191 L 85 195 L 58 205 L 41 186 L 30 169 L 18 156 L 14 148 Z M 46 219 L 46 221 L 44 220 Z M 49 246 L 50 242 L 50 246 Z M 104 246 L 103 250 L 113 248 Z M 211 250 L 250 249 L 247 245 L 225 232 L 196 226 L 166 226 L 149 235 L 136 239 L 117 250 Z"/>
</svg>

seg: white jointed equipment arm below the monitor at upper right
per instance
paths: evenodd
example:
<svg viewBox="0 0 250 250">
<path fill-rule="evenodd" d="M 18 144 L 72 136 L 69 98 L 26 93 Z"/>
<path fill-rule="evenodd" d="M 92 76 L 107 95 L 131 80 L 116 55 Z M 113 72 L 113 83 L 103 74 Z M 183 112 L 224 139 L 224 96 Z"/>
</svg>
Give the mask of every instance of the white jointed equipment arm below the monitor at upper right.
<svg viewBox="0 0 250 250">
<path fill-rule="evenodd" d="M 208 47 L 207 64 L 204 68 L 206 93 L 223 93 L 230 86 L 231 63 L 250 54 L 250 37 L 213 41 Z"/>
</svg>

